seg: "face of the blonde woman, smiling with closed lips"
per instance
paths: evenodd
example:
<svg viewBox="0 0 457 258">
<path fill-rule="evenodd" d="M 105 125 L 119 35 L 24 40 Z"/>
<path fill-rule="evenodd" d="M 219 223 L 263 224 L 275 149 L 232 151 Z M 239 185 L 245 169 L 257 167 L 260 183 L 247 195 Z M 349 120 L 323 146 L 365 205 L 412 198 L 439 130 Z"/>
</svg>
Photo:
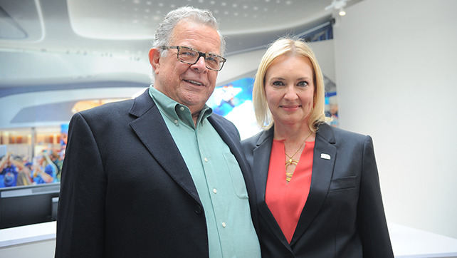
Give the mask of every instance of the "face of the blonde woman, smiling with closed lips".
<svg viewBox="0 0 457 258">
<path fill-rule="evenodd" d="M 313 107 L 313 68 L 305 56 L 278 56 L 265 76 L 265 93 L 276 125 L 308 126 Z"/>
</svg>

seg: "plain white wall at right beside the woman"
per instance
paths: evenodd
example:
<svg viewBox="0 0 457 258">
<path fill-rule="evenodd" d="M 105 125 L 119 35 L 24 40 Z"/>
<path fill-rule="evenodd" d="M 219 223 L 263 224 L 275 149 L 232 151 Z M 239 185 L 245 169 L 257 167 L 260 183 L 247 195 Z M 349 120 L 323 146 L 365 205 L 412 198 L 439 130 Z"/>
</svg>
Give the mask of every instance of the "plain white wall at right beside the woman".
<svg viewBox="0 0 457 258">
<path fill-rule="evenodd" d="M 364 0 L 334 31 L 340 127 L 374 138 L 387 220 L 454 238 L 456 10 Z"/>
</svg>

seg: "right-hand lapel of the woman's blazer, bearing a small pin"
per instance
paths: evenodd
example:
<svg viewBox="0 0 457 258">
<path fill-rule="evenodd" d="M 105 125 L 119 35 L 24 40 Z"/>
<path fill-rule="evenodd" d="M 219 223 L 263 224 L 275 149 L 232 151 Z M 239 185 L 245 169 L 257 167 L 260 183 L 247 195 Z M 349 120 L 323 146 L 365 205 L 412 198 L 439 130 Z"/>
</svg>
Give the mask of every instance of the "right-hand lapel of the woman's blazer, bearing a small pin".
<svg viewBox="0 0 457 258">
<path fill-rule="evenodd" d="M 325 201 L 335 164 L 337 149 L 334 144 L 335 138 L 330 130 L 330 125 L 323 123 L 316 134 L 310 193 L 290 245 L 293 245 L 305 233 Z"/>
</svg>

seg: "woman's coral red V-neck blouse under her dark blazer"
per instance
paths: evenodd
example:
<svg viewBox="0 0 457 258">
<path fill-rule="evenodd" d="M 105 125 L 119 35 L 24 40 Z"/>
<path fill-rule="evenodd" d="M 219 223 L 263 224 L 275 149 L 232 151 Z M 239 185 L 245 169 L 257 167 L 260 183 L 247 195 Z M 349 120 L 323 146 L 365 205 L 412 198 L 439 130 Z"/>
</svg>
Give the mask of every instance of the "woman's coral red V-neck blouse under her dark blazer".
<svg viewBox="0 0 457 258">
<path fill-rule="evenodd" d="M 305 143 L 298 165 L 290 182 L 287 183 L 284 140 L 273 139 L 265 201 L 289 243 L 310 192 L 314 143 L 314 141 Z"/>
</svg>

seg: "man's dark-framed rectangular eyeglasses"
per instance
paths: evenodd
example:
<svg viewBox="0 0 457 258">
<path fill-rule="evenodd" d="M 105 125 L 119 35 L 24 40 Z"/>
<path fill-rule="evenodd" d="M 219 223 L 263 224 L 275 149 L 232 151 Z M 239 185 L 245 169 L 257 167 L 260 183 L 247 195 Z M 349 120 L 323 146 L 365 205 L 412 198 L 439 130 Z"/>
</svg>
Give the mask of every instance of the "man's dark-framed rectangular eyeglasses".
<svg viewBox="0 0 457 258">
<path fill-rule="evenodd" d="M 177 57 L 178 60 L 182 63 L 187 63 L 190 65 L 195 64 L 199 61 L 200 56 L 205 58 L 206 68 L 212 71 L 221 71 L 222 66 L 224 66 L 226 58 L 222 56 L 215 55 L 213 53 L 203 53 L 196 51 L 194 48 L 189 48 L 187 46 L 161 46 L 160 49 L 169 49 L 176 48 L 178 50 Z"/>
</svg>

